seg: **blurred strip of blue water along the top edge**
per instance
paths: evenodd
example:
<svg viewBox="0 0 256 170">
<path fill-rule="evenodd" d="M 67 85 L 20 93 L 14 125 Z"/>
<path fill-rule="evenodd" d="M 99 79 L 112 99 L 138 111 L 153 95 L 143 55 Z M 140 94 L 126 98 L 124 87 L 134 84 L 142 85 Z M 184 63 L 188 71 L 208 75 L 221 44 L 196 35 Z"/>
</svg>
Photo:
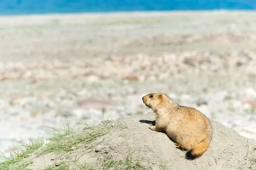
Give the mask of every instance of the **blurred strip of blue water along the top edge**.
<svg viewBox="0 0 256 170">
<path fill-rule="evenodd" d="M 216 9 L 253 10 L 256 0 L 0 0 L 0 14 Z"/>
</svg>

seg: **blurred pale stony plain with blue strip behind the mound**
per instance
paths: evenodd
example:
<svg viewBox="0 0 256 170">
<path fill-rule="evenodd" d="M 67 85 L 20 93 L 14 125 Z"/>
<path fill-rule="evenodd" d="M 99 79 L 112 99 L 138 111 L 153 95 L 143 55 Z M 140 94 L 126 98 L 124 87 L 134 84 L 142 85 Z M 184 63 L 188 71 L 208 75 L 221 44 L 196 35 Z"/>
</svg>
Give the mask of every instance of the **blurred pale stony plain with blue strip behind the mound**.
<svg viewBox="0 0 256 170">
<path fill-rule="evenodd" d="M 1 0 L 0 151 L 165 93 L 256 139 L 256 2 Z"/>
</svg>

